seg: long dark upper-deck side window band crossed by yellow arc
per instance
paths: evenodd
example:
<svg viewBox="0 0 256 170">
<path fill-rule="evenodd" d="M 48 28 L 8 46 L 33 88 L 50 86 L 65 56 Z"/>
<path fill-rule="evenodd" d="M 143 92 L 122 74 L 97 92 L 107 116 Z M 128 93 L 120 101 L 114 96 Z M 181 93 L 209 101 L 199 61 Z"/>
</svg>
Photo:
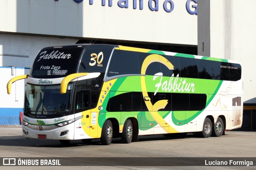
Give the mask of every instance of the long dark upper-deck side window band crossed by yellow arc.
<svg viewBox="0 0 256 170">
<path fill-rule="evenodd" d="M 168 68 L 163 62 L 170 62 L 172 67 Z M 162 76 L 237 81 L 241 79 L 241 70 L 241 65 L 235 63 L 115 50 L 107 76 L 162 73 Z"/>
</svg>

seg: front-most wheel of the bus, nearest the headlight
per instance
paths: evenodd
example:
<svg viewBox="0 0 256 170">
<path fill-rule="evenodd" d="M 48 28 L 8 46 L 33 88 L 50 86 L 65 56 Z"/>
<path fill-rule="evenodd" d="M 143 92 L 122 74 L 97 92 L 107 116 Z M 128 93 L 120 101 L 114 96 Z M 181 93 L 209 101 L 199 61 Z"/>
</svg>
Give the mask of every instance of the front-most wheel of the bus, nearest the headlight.
<svg viewBox="0 0 256 170">
<path fill-rule="evenodd" d="M 110 145 L 113 137 L 113 126 L 110 120 L 106 120 L 103 124 L 100 141 L 102 145 Z"/>
</svg>

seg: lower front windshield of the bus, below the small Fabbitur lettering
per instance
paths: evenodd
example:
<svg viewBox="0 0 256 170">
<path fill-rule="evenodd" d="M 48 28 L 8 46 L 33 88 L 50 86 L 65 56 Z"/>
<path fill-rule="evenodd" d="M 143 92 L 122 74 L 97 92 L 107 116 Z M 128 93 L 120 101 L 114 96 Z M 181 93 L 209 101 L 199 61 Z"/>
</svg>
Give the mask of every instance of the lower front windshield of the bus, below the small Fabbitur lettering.
<svg viewBox="0 0 256 170">
<path fill-rule="evenodd" d="M 53 118 L 69 115 L 73 83 L 68 84 L 66 94 L 60 94 L 60 85 L 26 85 L 24 114 Z"/>
</svg>

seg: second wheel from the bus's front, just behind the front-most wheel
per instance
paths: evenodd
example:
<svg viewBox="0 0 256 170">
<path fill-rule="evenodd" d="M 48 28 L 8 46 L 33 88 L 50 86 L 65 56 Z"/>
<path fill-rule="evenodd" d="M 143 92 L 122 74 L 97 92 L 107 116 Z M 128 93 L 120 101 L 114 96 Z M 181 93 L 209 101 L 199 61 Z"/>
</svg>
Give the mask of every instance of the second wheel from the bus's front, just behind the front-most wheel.
<svg viewBox="0 0 256 170">
<path fill-rule="evenodd" d="M 132 121 L 130 119 L 127 119 L 124 122 L 123 132 L 121 134 L 121 140 L 123 143 L 131 143 L 132 142 Z"/>
</svg>

